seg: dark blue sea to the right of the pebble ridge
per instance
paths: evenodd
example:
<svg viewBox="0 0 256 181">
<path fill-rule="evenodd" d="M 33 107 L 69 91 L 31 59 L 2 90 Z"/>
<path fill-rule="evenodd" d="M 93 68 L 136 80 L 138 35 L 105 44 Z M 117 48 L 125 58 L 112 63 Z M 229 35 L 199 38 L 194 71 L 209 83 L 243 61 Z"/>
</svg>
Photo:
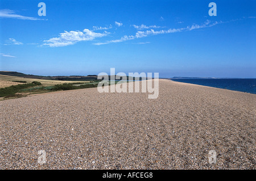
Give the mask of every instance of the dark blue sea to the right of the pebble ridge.
<svg viewBox="0 0 256 181">
<path fill-rule="evenodd" d="M 232 78 L 232 79 L 172 79 L 172 81 L 193 83 L 202 86 L 217 87 L 241 92 L 256 94 L 255 78 Z"/>
</svg>

